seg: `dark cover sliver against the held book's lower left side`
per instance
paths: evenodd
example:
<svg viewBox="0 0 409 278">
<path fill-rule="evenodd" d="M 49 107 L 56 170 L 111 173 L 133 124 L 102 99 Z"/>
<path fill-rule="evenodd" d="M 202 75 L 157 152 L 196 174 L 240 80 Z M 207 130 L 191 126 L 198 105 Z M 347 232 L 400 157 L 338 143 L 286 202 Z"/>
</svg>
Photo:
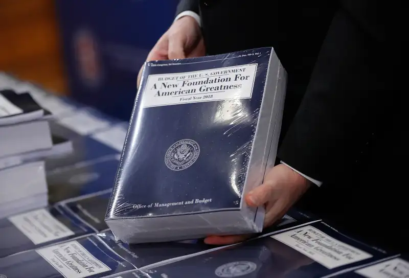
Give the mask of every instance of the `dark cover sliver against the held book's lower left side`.
<svg viewBox="0 0 409 278">
<path fill-rule="evenodd" d="M 79 219 L 88 223 L 97 231 L 108 229 L 105 223 L 105 212 L 108 206 L 111 189 L 92 193 L 68 200 L 58 204 L 62 211 L 68 211 Z"/>
</svg>

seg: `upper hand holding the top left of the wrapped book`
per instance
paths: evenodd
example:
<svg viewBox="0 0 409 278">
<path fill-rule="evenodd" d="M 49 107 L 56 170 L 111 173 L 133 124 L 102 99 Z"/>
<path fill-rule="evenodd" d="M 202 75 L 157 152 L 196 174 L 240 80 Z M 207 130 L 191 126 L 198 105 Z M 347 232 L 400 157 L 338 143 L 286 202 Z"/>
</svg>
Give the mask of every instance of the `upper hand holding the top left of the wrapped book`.
<svg viewBox="0 0 409 278">
<path fill-rule="evenodd" d="M 205 43 L 199 25 L 193 17 L 184 16 L 173 22 L 168 31 L 156 42 L 146 60 L 183 59 L 205 54 Z M 143 67 L 138 74 L 138 87 L 142 69 Z"/>
</svg>

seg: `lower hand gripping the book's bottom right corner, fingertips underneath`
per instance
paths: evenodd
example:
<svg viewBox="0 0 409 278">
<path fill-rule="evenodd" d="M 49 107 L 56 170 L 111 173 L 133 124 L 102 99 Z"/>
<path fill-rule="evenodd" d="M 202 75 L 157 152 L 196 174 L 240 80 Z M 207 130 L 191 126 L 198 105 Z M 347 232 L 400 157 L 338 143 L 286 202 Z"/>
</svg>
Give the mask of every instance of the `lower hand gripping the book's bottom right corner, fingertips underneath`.
<svg viewBox="0 0 409 278">
<path fill-rule="evenodd" d="M 308 190 L 311 182 L 284 164 L 272 168 L 264 183 L 249 192 L 245 200 L 249 206 L 265 205 L 264 227 L 281 219 L 289 208 Z M 246 240 L 248 235 L 209 236 L 207 244 L 225 245 Z"/>
</svg>

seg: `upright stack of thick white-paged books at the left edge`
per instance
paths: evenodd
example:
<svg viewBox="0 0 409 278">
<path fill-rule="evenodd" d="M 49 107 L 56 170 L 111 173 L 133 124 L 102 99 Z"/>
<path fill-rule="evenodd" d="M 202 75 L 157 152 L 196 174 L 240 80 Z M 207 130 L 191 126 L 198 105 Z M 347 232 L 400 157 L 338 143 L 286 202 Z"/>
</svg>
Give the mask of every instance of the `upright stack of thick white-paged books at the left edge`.
<svg viewBox="0 0 409 278">
<path fill-rule="evenodd" d="M 0 217 L 48 204 L 44 159 L 71 151 L 30 92 L 0 90 Z"/>
</svg>

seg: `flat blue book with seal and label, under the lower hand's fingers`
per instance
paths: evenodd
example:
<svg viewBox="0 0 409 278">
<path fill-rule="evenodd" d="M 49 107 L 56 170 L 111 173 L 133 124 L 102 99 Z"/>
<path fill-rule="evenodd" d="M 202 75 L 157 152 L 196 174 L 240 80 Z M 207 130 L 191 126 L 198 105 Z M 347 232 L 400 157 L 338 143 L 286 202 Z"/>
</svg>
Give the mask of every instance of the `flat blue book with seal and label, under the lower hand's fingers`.
<svg viewBox="0 0 409 278">
<path fill-rule="evenodd" d="M 315 278 L 390 256 L 316 222 L 151 270 L 168 278 Z"/>
</svg>

